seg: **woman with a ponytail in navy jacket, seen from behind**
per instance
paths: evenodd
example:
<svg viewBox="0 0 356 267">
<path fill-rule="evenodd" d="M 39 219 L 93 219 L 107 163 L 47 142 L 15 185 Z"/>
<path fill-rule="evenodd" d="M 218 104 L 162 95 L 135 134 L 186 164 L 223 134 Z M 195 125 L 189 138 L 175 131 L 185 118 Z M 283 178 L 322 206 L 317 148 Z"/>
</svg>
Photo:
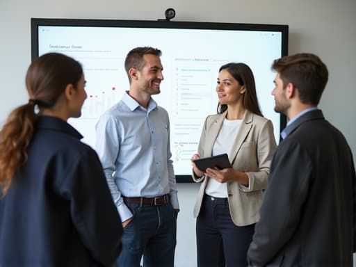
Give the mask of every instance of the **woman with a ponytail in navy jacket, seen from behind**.
<svg viewBox="0 0 356 267">
<path fill-rule="evenodd" d="M 122 224 L 97 154 L 68 118 L 86 99 L 81 65 L 44 54 L 26 74 L 29 103 L 0 131 L 0 266 L 110 266 Z"/>
</svg>

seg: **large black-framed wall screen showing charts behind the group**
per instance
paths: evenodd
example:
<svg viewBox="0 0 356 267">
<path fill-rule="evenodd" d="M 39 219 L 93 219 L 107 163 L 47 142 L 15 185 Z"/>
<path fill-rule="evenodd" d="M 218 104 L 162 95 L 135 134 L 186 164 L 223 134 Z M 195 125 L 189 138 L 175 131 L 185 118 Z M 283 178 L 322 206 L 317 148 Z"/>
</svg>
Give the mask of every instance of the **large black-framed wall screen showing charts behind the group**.
<svg viewBox="0 0 356 267">
<path fill-rule="evenodd" d="M 124 59 L 134 47 L 162 51 L 164 80 L 153 98 L 168 111 L 170 148 L 177 181 L 191 181 L 191 156 L 202 125 L 218 106 L 218 69 L 229 62 L 249 65 L 264 117 L 272 120 L 276 140 L 285 118 L 273 110 L 273 60 L 287 54 L 288 26 L 102 19 L 31 19 L 31 54 L 72 56 L 83 65 L 88 99 L 81 118 L 70 119 L 95 148 L 99 116 L 129 90 Z"/>
</svg>

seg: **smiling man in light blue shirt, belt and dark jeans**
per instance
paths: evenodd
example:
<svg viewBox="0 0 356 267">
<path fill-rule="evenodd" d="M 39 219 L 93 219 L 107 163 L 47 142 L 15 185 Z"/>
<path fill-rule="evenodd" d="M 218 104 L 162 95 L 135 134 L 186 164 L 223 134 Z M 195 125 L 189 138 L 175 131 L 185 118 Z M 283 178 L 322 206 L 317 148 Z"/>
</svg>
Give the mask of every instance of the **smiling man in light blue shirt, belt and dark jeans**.
<svg viewBox="0 0 356 267">
<path fill-rule="evenodd" d="M 151 95 L 163 81 L 161 51 L 129 51 L 130 90 L 97 123 L 96 150 L 124 227 L 116 266 L 174 266 L 177 186 L 168 113 Z"/>
</svg>

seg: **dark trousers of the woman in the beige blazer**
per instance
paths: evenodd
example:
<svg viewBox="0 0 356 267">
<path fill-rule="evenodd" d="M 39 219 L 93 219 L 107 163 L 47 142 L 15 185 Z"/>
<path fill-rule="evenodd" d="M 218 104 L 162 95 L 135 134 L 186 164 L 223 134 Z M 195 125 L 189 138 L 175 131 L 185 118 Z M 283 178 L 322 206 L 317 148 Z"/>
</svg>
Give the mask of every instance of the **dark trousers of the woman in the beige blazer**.
<svg viewBox="0 0 356 267">
<path fill-rule="evenodd" d="M 232 222 L 227 198 L 204 196 L 197 217 L 197 265 L 247 266 L 254 224 L 238 227 Z"/>
</svg>

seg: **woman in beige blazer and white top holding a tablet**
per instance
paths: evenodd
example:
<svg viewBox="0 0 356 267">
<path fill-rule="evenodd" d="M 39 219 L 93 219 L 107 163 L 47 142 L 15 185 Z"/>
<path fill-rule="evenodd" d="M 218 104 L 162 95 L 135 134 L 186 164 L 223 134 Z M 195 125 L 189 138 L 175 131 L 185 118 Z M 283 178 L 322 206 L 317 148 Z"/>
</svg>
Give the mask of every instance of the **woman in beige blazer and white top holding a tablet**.
<svg viewBox="0 0 356 267">
<path fill-rule="evenodd" d="M 259 110 L 254 76 L 243 63 L 220 67 L 218 114 L 204 122 L 193 180 L 202 182 L 197 217 L 198 266 L 247 266 L 246 254 L 259 220 L 276 147 L 273 124 Z M 195 159 L 227 153 L 232 168 L 199 170 Z"/>
</svg>

